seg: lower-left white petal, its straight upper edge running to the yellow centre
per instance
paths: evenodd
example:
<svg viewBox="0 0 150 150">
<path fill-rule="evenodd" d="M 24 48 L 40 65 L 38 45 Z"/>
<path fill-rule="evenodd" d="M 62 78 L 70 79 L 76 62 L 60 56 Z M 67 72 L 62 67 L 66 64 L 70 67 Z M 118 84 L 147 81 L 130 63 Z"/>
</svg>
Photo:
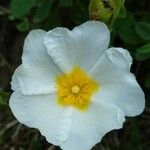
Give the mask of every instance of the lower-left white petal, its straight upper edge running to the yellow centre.
<svg viewBox="0 0 150 150">
<path fill-rule="evenodd" d="M 9 104 L 21 123 L 38 128 L 48 142 L 60 145 L 68 138 L 72 109 L 59 106 L 55 94 L 25 96 L 15 92 Z"/>
</svg>

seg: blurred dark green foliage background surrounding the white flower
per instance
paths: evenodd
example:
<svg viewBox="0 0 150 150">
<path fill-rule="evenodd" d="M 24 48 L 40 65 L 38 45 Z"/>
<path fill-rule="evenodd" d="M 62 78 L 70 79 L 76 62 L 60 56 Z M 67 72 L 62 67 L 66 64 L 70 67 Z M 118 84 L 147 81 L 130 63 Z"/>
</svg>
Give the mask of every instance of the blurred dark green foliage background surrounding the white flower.
<svg viewBox="0 0 150 150">
<path fill-rule="evenodd" d="M 131 71 L 146 96 L 144 113 L 127 118 L 123 129 L 108 133 L 93 150 L 150 150 L 150 0 L 126 0 L 119 7 L 111 1 L 99 0 L 102 5 L 94 7 L 100 14 L 91 12 L 90 6 L 89 15 L 89 0 L 0 0 L 0 150 L 59 149 L 49 148 L 51 144 L 38 130 L 13 117 L 8 106 L 11 76 L 21 63 L 24 38 L 30 30 L 72 29 L 90 20 L 89 16 L 108 24 L 110 46 L 130 51 L 134 58 Z"/>
</svg>

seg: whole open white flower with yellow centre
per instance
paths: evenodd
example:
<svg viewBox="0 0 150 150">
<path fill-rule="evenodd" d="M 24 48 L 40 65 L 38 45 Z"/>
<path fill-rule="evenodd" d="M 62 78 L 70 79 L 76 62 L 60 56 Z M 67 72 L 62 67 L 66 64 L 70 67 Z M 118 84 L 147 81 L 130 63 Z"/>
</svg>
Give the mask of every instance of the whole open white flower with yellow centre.
<svg viewBox="0 0 150 150">
<path fill-rule="evenodd" d="M 12 77 L 14 116 L 64 150 L 89 150 L 125 116 L 140 114 L 145 101 L 132 58 L 123 48 L 107 49 L 109 40 L 96 21 L 31 31 Z"/>
</svg>

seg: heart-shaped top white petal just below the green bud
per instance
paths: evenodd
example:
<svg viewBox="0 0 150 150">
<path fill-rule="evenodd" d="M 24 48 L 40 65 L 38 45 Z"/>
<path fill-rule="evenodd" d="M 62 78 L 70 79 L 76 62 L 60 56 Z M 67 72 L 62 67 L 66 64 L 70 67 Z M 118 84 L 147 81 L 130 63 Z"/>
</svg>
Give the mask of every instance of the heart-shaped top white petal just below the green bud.
<svg viewBox="0 0 150 150">
<path fill-rule="evenodd" d="M 74 66 L 89 71 L 106 51 L 110 33 L 107 26 L 98 21 L 88 21 L 72 31 L 55 28 L 44 39 L 48 54 L 63 72 Z"/>
</svg>

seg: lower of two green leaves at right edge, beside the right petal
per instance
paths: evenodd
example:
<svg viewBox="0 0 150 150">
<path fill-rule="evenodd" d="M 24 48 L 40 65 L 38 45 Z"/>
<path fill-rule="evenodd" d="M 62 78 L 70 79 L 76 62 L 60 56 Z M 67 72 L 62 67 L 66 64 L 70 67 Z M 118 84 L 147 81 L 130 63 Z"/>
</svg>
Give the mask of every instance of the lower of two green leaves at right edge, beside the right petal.
<svg viewBox="0 0 150 150">
<path fill-rule="evenodd" d="M 145 60 L 150 58 L 150 44 L 146 44 L 137 49 L 135 58 L 137 60 Z"/>
</svg>

